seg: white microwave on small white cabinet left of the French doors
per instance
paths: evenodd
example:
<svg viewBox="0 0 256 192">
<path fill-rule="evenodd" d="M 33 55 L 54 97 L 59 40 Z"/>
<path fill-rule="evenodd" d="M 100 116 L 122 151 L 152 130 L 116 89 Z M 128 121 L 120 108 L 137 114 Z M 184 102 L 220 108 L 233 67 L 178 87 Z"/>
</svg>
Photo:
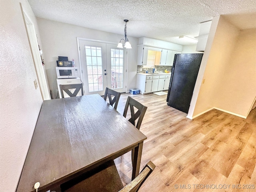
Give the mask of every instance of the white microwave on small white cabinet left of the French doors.
<svg viewBox="0 0 256 192">
<path fill-rule="evenodd" d="M 56 73 L 57 73 L 58 79 L 77 78 L 78 68 L 77 67 L 56 67 Z"/>
</svg>

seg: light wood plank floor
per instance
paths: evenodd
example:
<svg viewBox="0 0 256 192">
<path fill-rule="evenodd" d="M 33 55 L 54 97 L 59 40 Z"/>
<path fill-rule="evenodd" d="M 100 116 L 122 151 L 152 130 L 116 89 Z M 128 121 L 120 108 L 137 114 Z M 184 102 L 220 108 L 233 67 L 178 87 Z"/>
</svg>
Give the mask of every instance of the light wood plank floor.
<svg viewBox="0 0 256 192">
<path fill-rule="evenodd" d="M 211 110 L 190 120 L 167 106 L 166 95 L 122 94 L 121 114 L 127 96 L 148 107 L 140 168 L 149 160 L 156 165 L 140 192 L 256 191 L 256 109 L 247 119 Z M 130 182 L 131 154 L 115 163 L 124 185 Z"/>
</svg>

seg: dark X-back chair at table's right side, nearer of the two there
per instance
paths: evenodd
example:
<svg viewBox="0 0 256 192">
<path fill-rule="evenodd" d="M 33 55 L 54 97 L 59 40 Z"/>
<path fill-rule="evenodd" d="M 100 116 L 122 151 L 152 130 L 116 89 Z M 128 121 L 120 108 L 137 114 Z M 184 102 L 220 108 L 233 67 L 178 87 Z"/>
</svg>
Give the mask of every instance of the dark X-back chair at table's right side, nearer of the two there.
<svg viewBox="0 0 256 192">
<path fill-rule="evenodd" d="M 124 114 L 123 114 L 124 117 L 126 117 L 127 115 L 129 106 L 130 106 L 130 112 L 131 112 L 131 118 L 129 119 L 129 121 L 134 126 L 136 126 L 136 128 L 139 130 L 143 117 L 146 113 L 147 107 L 142 105 L 140 102 L 136 101 L 135 99 L 131 98 L 130 96 L 128 96 L 126 105 L 124 107 Z M 134 112 L 134 107 L 138 109 L 136 113 Z M 137 119 L 138 119 L 138 122 L 136 124 Z"/>
</svg>

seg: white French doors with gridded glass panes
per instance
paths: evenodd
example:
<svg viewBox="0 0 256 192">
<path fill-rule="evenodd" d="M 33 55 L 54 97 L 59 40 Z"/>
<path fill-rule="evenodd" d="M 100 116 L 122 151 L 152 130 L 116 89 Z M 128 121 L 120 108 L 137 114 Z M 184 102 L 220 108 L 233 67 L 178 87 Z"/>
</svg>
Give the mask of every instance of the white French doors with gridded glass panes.
<svg viewBox="0 0 256 192">
<path fill-rule="evenodd" d="M 104 95 L 106 87 L 126 91 L 126 54 L 115 44 L 79 40 L 84 94 Z"/>
</svg>

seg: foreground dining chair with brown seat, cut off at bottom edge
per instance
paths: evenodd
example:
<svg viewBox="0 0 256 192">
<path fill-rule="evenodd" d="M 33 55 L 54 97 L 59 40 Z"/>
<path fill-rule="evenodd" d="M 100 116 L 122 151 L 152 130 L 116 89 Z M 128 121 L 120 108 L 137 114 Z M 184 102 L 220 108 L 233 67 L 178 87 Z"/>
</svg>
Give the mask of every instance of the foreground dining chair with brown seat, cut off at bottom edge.
<svg viewBox="0 0 256 192">
<path fill-rule="evenodd" d="M 125 187 L 116 169 L 114 160 L 110 160 L 79 178 L 61 185 L 62 192 L 137 192 L 156 166 L 149 161 L 140 174 Z"/>
</svg>

